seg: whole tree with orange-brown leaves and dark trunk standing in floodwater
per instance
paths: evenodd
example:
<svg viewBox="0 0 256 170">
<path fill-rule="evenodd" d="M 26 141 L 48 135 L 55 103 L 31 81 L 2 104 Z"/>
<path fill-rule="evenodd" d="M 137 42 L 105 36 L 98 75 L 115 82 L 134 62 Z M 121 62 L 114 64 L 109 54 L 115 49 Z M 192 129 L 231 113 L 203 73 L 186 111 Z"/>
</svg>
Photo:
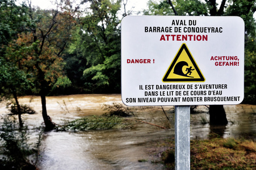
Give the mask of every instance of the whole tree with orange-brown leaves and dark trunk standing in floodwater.
<svg viewBox="0 0 256 170">
<path fill-rule="evenodd" d="M 68 10 L 36 10 L 31 4 L 28 7 L 27 31 L 19 33 L 9 46 L 19 53 L 19 69 L 31 75 L 32 92 L 41 97 L 45 130 L 51 130 L 55 124 L 47 114 L 45 96 L 56 82 L 65 79 L 61 54 L 72 39 L 75 20 Z"/>
</svg>

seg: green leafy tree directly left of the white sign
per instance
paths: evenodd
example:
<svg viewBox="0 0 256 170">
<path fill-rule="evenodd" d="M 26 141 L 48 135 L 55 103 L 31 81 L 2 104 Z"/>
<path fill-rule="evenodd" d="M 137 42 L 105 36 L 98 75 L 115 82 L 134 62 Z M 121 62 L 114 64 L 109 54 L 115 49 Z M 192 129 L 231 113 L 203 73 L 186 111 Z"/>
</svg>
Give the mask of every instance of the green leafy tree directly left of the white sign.
<svg viewBox="0 0 256 170">
<path fill-rule="evenodd" d="M 90 9 L 80 18 L 77 38 L 69 48 L 69 71 L 72 65 L 78 70 L 75 76 L 83 75 L 83 86 L 87 92 L 120 92 L 120 19 L 117 12 L 121 1 L 83 1 L 89 3 Z M 86 63 L 86 65 L 84 65 Z M 74 69 L 73 69 L 74 70 Z M 70 75 L 71 76 L 71 75 Z"/>
</svg>

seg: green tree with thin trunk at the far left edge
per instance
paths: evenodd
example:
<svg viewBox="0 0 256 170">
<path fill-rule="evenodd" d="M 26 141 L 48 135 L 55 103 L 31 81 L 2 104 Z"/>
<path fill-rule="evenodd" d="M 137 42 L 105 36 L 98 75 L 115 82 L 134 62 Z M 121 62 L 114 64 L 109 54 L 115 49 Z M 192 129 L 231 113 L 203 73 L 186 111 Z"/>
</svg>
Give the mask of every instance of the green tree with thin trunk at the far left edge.
<svg viewBox="0 0 256 170">
<path fill-rule="evenodd" d="M 18 95 L 27 89 L 27 74 L 19 70 L 18 59 L 10 61 L 9 42 L 18 38 L 18 33 L 26 29 L 26 6 L 17 6 L 15 1 L 0 1 L 0 85 L 1 96 L 14 97 L 18 108 L 19 125 L 22 128 L 21 109 Z"/>
</svg>

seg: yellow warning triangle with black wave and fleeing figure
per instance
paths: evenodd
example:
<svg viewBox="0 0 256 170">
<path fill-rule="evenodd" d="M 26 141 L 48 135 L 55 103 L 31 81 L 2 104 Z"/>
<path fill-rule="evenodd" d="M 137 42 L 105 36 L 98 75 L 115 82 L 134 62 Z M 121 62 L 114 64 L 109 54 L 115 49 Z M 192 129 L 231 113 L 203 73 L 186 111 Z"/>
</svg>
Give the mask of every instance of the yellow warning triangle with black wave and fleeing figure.
<svg viewBox="0 0 256 170">
<path fill-rule="evenodd" d="M 183 43 L 171 65 L 163 76 L 162 82 L 204 82 L 205 78 L 195 59 Z"/>
</svg>

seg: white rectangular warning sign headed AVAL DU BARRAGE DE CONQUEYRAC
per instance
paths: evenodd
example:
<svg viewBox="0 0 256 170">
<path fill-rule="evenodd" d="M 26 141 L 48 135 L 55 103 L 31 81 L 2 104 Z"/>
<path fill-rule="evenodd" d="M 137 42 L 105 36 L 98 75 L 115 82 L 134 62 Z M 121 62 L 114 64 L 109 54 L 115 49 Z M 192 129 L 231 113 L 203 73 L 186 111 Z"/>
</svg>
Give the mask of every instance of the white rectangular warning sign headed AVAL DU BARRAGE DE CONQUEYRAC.
<svg viewBox="0 0 256 170">
<path fill-rule="evenodd" d="M 123 103 L 241 103 L 244 27 L 237 16 L 126 16 L 121 22 Z"/>
</svg>

